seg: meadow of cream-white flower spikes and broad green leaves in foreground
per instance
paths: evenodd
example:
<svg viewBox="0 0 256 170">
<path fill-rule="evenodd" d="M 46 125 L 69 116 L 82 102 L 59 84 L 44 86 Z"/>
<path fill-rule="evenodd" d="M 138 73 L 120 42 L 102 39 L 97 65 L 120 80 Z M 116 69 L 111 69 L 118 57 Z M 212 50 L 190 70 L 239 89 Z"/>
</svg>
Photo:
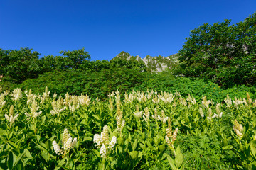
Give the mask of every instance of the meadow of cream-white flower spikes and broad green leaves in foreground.
<svg viewBox="0 0 256 170">
<path fill-rule="evenodd" d="M 256 101 L 0 90 L 0 169 L 256 169 Z"/>
</svg>

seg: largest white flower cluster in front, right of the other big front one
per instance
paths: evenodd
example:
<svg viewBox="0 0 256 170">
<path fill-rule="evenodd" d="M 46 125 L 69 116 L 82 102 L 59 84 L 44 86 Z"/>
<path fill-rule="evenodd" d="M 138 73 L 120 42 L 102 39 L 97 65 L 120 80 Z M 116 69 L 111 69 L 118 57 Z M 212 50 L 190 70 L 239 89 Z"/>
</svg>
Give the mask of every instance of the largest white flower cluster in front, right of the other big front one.
<svg viewBox="0 0 256 170">
<path fill-rule="evenodd" d="M 95 134 L 93 137 L 93 142 L 95 142 L 95 146 L 100 148 L 100 157 L 107 157 L 110 154 L 111 150 L 114 149 L 114 145 L 117 143 L 117 137 L 113 136 L 112 140 L 109 140 L 109 132 L 107 125 L 103 127 L 102 132 L 99 134 Z"/>
</svg>

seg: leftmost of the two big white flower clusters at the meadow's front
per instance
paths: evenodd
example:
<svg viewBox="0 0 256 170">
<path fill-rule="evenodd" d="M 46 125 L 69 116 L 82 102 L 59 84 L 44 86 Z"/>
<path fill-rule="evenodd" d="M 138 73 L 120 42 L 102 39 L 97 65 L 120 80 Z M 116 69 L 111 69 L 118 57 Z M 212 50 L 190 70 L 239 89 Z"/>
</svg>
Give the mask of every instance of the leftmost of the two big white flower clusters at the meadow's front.
<svg viewBox="0 0 256 170">
<path fill-rule="evenodd" d="M 72 137 L 70 136 L 70 134 L 68 133 L 68 129 L 65 129 L 63 132 L 63 147 L 60 148 L 60 146 L 57 144 L 57 142 L 54 140 L 53 141 L 53 149 L 55 151 L 56 154 L 63 154 L 63 157 L 65 156 L 65 154 L 67 154 L 68 152 L 70 152 L 70 149 L 75 147 L 75 145 L 77 144 L 77 138 L 75 137 L 72 140 Z"/>
</svg>

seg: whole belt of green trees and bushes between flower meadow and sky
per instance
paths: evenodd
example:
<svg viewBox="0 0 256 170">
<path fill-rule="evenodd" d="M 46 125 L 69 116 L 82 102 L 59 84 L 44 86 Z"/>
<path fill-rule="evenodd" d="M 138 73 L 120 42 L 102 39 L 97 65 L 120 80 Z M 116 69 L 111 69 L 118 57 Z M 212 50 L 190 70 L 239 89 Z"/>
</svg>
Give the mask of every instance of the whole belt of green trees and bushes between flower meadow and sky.
<svg viewBox="0 0 256 170">
<path fill-rule="evenodd" d="M 227 94 L 255 94 L 256 14 L 236 26 L 230 21 L 208 23 L 191 31 L 178 52 L 178 66 L 166 72 L 149 72 L 137 60 L 90 61 L 84 48 L 61 51 L 60 56 L 41 57 L 32 49 L 0 49 L 2 89 L 32 89 L 45 86 L 57 94 L 88 94 L 106 99 L 119 89 L 125 91 L 179 91 L 200 100 L 203 95 L 223 101 Z"/>
</svg>

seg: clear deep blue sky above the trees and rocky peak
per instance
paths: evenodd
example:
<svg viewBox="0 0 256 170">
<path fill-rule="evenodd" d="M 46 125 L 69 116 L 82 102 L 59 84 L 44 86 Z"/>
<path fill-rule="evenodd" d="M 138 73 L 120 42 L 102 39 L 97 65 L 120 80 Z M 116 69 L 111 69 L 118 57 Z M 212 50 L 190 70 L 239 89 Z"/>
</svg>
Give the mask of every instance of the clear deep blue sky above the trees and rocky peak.
<svg viewBox="0 0 256 170">
<path fill-rule="evenodd" d="M 256 0 L 0 0 L 0 48 L 45 55 L 85 47 L 92 60 L 172 55 L 193 28 L 244 21 Z"/>
</svg>

